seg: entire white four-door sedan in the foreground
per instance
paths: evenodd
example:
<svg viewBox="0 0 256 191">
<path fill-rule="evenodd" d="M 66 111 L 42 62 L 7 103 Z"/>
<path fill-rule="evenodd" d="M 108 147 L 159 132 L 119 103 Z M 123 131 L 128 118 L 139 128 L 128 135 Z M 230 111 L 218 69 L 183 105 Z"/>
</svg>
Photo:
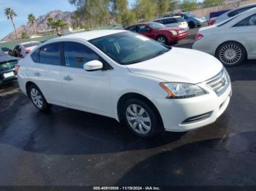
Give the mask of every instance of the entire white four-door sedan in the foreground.
<svg viewBox="0 0 256 191">
<path fill-rule="evenodd" d="M 231 95 L 227 71 L 213 56 L 129 31 L 51 39 L 19 66 L 20 90 L 40 111 L 56 104 L 101 114 L 141 137 L 208 125 Z"/>
</svg>

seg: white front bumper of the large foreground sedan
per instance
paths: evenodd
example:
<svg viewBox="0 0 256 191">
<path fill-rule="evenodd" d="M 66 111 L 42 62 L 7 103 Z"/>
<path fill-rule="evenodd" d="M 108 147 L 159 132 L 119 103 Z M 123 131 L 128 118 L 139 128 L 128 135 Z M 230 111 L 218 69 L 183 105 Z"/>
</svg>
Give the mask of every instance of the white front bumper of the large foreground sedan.
<svg viewBox="0 0 256 191">
<path fill-rule="evenodd" d="M 194 130 L 215 122 L 225 112 L 232 95 L 231 85 L 228 85 L 222 95 L 217 95 L 210 87 L 204 89 L 208 94 L 195 98 L 157 98 L 157 109 L 165 130 L 176 132 Z"/>
</svg>

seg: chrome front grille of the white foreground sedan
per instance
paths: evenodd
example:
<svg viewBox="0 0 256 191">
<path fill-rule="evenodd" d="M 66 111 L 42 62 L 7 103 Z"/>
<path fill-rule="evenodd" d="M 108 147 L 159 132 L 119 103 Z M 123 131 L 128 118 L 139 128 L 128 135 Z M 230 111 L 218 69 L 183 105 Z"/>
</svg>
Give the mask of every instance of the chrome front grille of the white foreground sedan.
<svg viewBox="0 0 256 191">
<path fill-rule="evenodd" d="M 222 71 L 220 71 L 219 74 L 206 81 L 206 85 L 211 87 L 211 89 L 214 90 L 214 92 L 216 92 L 217 95 L 221 95 L 222 93 L 224 93 L 229 84 L 230 79 L 225 69 L 222 69 Z"/>
</svg>

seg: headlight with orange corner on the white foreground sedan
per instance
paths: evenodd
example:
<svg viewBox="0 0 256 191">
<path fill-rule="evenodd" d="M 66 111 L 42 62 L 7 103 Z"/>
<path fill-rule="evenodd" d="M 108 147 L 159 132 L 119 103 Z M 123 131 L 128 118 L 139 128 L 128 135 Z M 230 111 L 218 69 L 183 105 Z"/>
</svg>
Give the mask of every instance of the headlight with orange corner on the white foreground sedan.
<svg viewBox="0 0 256 191">
<path fill-rule="evenodd" d="M 168 93 L 167 98 L 192 98 L 207 93 L 201 87 L 192 84 L 166 82 L 159 85 Z"/>
</svg>

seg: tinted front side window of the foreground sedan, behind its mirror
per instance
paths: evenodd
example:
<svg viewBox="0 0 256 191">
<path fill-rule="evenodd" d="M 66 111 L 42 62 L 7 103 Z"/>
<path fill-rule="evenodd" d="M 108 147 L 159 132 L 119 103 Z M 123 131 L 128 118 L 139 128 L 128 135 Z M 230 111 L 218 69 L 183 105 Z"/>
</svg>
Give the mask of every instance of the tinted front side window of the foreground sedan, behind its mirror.
<svg viewBox="0 0 256 191">
<path fill-rule="evenodd" d="M 99 56 L 89 47 L 76 42 L 66 42 L 64 44 L 64 57 L 66 66 L 81 69 L 83 69 L 84 63 L 94 60 L 99 61 Z"/>
</svg>

